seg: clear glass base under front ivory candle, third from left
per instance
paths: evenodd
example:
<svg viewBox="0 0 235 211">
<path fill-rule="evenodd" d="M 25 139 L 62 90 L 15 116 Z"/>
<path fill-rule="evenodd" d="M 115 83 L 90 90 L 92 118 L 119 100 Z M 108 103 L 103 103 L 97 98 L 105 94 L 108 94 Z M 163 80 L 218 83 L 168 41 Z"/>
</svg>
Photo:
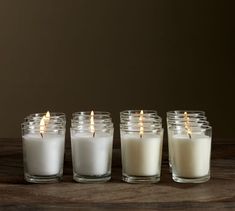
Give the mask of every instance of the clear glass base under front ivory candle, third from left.
<svg viewBox="0 0 235 211">
<path fill-rule="evenodd" d="M 122 180 L 127 183 L 157 183 L 160 181 L 159 176 L 127 176 L 122 175 Z"/>
</svg>

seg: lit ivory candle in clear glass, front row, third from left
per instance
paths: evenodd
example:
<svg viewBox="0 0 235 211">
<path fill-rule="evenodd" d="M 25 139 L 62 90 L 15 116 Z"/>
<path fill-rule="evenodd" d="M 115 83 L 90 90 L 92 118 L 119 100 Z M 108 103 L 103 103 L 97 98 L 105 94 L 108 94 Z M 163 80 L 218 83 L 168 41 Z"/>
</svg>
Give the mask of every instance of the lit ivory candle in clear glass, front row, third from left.
<svg viewBox="0 0 235 211">
<path fill-rule="evenodd" d="M 120 117 L 123 118 L 123 117 Z M 160 181 L 163 129 L 161 122 L 120 124 L 122 180 L 128 183 Z"/>
</svg>

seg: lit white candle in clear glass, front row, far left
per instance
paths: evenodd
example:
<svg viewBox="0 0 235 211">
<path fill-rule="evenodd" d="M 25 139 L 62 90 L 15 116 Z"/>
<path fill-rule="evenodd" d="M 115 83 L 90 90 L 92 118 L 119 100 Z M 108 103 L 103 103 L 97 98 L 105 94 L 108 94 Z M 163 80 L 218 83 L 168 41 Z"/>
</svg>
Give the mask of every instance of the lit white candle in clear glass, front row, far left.
<svg viewBox="0 0 235 211">
<path fill-rule="evenodd" d="M 53 183 L 63 177 L 65 125 L 48 120 L 24 122 L 23 141 L 24 178 L 31 183 Z"/>
</svg>

